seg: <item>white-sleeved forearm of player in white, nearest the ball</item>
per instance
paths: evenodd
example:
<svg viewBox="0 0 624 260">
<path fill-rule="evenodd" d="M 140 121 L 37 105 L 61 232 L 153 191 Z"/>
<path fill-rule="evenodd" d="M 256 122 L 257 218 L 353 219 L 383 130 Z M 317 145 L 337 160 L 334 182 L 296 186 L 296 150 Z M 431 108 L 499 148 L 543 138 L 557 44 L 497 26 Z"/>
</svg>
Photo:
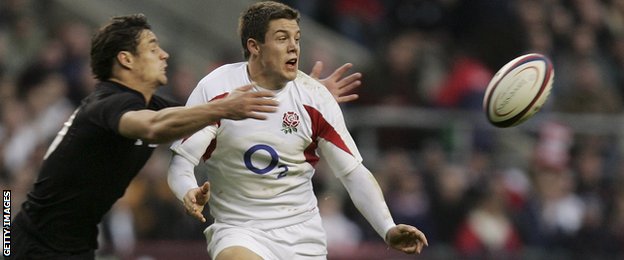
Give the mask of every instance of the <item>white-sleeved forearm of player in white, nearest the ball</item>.
<svg viewBox="0 0 624 260">
<path fill-rule="evenodd" d="M 339 178 L 353 204 L 385 240 L 386 233 L 395 223 L 375 177 L 366 167 L 359 165 L 351 173 Z"/>
</svg>

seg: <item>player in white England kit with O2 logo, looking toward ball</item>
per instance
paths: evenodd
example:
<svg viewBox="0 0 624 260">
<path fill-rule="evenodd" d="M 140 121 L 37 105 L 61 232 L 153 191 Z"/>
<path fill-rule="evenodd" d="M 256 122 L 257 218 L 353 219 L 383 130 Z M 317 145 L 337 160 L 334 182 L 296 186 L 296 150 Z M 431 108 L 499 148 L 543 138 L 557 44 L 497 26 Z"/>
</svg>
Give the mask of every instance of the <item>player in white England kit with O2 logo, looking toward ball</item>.
<svg viewBox="0 0 624 260">
<path fill-rule="evenodd" d="M 224 65 L 197 85 L 187 105 L 227 96 L 254 83 L 279 102 L 267 120 L 220 120 L 171 147 L 169 186 L 192 216 L 209 203 L 205 231 L 212 259 L 325 259 L 327 245 L 316 196 L 314 167 L 322 160 L 356 207 L 386 241 L 408 254 L 427 245 L 417 228 L 395 224 L 382 192 L 347 131 L 332 94 L 298 70 L 299 13 L 259 2 L 240 17 L 247 62 Z M 194 168 L 205 163 L 200 187 Z"/>
</svg>

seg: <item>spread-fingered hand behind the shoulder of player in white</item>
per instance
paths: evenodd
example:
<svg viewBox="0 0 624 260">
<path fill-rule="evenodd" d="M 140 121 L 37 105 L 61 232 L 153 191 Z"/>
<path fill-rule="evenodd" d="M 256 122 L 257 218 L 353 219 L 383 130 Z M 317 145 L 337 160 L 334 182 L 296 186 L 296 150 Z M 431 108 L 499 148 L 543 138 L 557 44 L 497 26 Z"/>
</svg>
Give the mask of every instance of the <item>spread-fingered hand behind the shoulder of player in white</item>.
<svg viewBox="0 0 624 260">
<path fill-rule="evenodd" d="M 353 73 L 349 76 L 342 77 L 342 75 L 347 72 L 353 64 L 345 63 L 344 65 L 337 68 L 331 75 L 327 78 L 319 79 L 321 71 L 323 71 L 323 62 L 317 61 L 314 63 L 314 67 L 312 67 L 312 71 L 310 72 L 310 76 L 320 81 L 325 87 L 332 93 L 336 101 L 338 103 L 345 103 L 356 100 L 359 98 L 357 94 L 349 94 L 355 88 L 359 87 L 362 84 L 362 74 L 359 72 Z"/>
</svg>

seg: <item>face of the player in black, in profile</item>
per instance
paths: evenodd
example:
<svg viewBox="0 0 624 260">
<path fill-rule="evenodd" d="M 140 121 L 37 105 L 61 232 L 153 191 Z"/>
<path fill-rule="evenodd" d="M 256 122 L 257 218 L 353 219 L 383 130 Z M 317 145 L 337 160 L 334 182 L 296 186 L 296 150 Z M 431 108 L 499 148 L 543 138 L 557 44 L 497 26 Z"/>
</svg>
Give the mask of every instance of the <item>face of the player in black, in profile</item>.
<svg viewBox="0 0 624 260">
<path fill-rule="evenodd" d="M 169 53 L 160 48 L 158 38 L 150 30 L 141 33 L 141 39 L 137 46 L 136 70 L 142 82 L 162 86 L 167 84 L 167 59 Z"/>
</svg>

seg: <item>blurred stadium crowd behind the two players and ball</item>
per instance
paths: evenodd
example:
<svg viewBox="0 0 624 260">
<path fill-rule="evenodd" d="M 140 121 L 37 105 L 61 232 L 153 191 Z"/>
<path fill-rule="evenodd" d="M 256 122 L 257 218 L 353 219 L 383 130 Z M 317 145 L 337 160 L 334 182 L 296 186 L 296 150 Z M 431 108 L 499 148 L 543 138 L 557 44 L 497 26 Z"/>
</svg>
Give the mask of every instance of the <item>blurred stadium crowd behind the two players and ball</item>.
<svg viewBox="0 0 624 260">
<path fill-rule="evenodd" d="M 0 186 L 13 216 L 94 86 L 96 28 L 146 14 L 171 54 L 162 94 L 184 102 L 203 75 L 243 60 L 236 24 L 251 2 L 0 0 Z M 319 171 L 329 259 L 624 258 L 624 0 L 283 2 L 303 14 L 301 70 L 320 60 L 322 76 L 345 62 L 363 73 L 347 125 L 395 221 L 429 239 L 420 256 L 388 250 Z M 550 98 L 524 124 L 495 128 L 487 83 L 529 52 L 554 63 Z M 208 258 L 207 224 L 167 186 L 167 147 L 105 217 L 98 259 Z"/>
</svg>

